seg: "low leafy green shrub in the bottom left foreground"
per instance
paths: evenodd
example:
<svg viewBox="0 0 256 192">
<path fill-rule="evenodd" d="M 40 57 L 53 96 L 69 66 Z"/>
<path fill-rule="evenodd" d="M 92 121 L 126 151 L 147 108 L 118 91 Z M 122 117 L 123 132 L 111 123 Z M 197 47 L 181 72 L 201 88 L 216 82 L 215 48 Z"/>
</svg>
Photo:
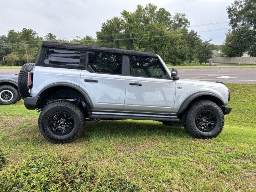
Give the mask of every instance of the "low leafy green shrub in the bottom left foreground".
<svg viewBox="0 0 256 192">
<path fill-rule="evenodd" d="M 62 156 L 44 154 L 0 172 L 0 191 L 138 191 L 115 175 L 99 176 L 86 165 Z"/>
</svg>

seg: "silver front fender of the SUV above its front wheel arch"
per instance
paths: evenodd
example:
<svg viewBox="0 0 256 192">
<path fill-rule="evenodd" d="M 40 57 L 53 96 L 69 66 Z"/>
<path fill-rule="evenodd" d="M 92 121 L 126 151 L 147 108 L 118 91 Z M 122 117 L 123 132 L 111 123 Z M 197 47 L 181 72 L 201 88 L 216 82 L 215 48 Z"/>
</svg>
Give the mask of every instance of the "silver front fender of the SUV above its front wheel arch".
<svg viewBox="0 0 256 192">
<path fill-rule="evenodd" d="M 182 103 L 195 93 L 211 93 L 228 104 L 228 88 L 220 83 L 180 79 L 176 80 L 176 96 L 173 112 L 178 112 Z"/>
</svg>

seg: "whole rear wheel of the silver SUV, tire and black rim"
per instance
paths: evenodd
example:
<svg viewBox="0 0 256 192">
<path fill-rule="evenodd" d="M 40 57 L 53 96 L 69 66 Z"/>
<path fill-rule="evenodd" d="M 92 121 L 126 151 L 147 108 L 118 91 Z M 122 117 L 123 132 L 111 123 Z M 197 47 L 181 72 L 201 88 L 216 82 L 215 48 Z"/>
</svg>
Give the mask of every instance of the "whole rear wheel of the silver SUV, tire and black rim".
<svg viewBox="0 0 256 192">
<path fill-rule="evenodd" d="M 68 101 L 54 101 L 40 113 L 38 127 L 44 138 L 52 143 L 70 143 L 84 129 L 82 109 Z"/>
</svg>

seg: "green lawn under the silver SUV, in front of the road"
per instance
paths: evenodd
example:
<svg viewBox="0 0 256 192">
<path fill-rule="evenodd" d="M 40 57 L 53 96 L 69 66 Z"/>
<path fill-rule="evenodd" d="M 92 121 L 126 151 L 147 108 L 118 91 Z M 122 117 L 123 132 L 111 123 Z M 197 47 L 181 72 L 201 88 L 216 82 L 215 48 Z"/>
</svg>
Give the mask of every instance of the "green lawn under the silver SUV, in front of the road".
<svg viewBox="0 0 256 192">
<path fill-rule="evenodd" d="M 256 191 L 256 85 L 227 86 L 233 109 L 214 139 L 194 139 L 156 121 L 102 120 L 86 122 L 71 144 L 51 144 L 38 131 L 38 113 L 20 101 L 0 106 L 0 148 L 7 166 L 30 155 L 61 154 L 143 191 Z"/>
</svg>

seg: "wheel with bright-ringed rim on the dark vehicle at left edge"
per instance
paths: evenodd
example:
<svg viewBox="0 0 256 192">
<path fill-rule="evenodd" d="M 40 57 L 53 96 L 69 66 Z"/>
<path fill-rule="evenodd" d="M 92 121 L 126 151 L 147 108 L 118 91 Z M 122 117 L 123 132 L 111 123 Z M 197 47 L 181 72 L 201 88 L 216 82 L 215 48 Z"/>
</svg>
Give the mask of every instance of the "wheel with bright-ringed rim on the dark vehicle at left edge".
<svg viewBox="0 0 256 192">
<path fill-rule="evenodd" d="M 19 99 L 19 93 L 13 86 L 0 86 L 0 104 L 9 105 L 15 104 Z"/>
</svg>

